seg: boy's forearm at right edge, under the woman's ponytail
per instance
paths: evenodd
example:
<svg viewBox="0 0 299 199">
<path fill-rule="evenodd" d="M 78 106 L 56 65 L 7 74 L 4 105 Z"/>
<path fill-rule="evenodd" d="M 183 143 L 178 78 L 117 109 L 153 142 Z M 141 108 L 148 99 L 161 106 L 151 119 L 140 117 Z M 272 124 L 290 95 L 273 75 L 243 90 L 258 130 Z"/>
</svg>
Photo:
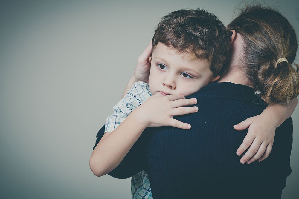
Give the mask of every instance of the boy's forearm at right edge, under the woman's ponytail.
<svg viewBox="0 0 299 199">
<path fill-rule="evenodd" d="M 297 98 L 293 98 L 289 103 L 285 104 L 271 104 L 261 113 L 261 115 L 266 115 L 266 117 L 272 118 L 275 128 L 277 128 L 293 114 L 297 104 Z"/>
</svg>

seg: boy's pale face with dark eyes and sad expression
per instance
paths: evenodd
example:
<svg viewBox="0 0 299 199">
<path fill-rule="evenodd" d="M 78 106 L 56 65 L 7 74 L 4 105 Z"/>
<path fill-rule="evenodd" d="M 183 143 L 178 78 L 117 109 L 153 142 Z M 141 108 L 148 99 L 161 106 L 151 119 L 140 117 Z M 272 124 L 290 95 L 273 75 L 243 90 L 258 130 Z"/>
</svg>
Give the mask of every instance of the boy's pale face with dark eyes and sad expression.
<svg viewBox="0 0 299 199">
<path fill-rule="evenodd" d="M 152 52 L 149 90 L 152 95 L 184 95 L 199 91 L 212 81 L 211 62 L 191 54 L 178 54 L 158 43 Z"/>
</svg>

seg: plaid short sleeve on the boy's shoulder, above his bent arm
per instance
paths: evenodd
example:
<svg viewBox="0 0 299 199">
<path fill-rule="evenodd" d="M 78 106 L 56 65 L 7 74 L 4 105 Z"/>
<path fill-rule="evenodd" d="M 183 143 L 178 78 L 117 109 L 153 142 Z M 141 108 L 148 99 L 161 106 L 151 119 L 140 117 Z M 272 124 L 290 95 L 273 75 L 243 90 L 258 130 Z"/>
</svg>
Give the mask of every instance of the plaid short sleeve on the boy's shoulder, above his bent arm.
<svg viewBox="0 0 299 199">
<path fill-rule="evenodd" d="M 129 92 L 113 107 L 112 115 L 109 115 L 105 123 L 105 132 L 115 130 L 128 115 L 147 98 L 150 97 L 148 84 L 136 82 Z"/>
</svg>

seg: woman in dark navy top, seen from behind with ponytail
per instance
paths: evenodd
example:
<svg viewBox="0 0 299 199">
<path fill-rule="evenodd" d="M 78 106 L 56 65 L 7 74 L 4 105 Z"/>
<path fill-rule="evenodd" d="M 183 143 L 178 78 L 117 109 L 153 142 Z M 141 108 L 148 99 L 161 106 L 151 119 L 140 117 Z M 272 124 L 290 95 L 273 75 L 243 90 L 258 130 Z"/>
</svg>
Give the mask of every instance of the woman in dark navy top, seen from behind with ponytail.
<svg viewBox="0 0 299 199">
<path fill-rule="evenodd" d="M 298 95 L 298 65 L 297 70 L 290 65 L 297 51 L 296 34 L 280 13 L 260 7 L 245 9 L 228 25 L 228 30 L 232 33 L 232 49 L 226 72 L 218 83 L 190 96 L 197 98 L 199 112 L 192 117 L 177 117 L 192 123 L 190 132 L 171 127 L 147 129 L 123 162 L 110 172 L 112 176 L 129 177 L 144 169 L 154 198 L 246 198 L 252 196 L 245 195 L 249 190 L 257 195 L 255 198 L 281 197 L 291 171 L 291 119 L 277 128 L 272 152 L 271 144 L 259 143 L 254 136 L 246 136 L 247 132 L 235 132 L 232 126 L 265 109 L 254 90 L 259 90 L 269 104 Z M 148 77 L 147 64 L 144 65 L 135 71 L 135 77 L 141 75 L 139 81 Z M 135 80 L 133 76 L 128 87 Z M 250 166 L 237 163 L 234 149 L 243 139 L 238 152 L 244 152 L 253 139 L 251 147 L 257 148 L 247 152 L 252 157 L 249 161 L 264 154 L 263 160 L 271 154 Z M 128 169 L 132 157 L 138 154 L 146 154 L 144 160 Z"/>
</svg>

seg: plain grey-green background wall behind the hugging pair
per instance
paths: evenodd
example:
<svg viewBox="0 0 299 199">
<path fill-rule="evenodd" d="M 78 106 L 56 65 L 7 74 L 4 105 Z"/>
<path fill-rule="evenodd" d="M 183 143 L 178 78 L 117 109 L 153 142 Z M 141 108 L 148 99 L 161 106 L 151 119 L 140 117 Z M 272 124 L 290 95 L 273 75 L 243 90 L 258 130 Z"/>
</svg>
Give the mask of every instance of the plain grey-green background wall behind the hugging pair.
<svg viewBox="0 0 299 199">
<path fill-rule="evenodd" d="M 238 4 L 1 1 L 0 198 L 131 198 L 130 179 L 94 176 L 89 157 L 138 56 L 167 13 L 200 7 L 227 25 Z M 299 32 L 299 1 L 270 4 Z M 282 198 L 299 196 L 298 107 Z"/>
</svg>

